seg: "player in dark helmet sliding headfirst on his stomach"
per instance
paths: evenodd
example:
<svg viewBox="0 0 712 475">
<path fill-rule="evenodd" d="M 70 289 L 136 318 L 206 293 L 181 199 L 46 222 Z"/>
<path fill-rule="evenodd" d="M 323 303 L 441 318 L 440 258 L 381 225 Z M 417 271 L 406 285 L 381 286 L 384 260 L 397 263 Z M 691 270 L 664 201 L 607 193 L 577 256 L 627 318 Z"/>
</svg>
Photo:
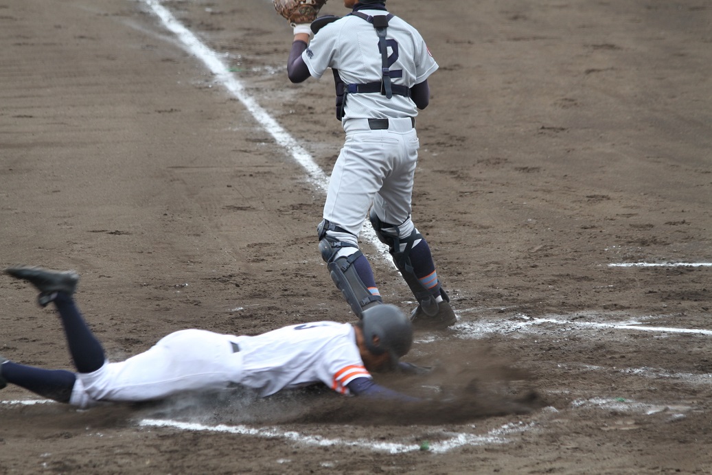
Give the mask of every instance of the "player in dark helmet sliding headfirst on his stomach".
<svg viewBox="0 0 712 475">
<path fill-rule="evenodd" d="M 0 389 L 12 383 L 78 407 L 161 400 L 235 386 L 264 397 L 318 383 L 342 395 L 417 400 L 377 385 L 371 376 L 396 368 L 420 370 L 399 362 L 410 350 L 413 333 L 407 316 L 394 306 L 372 308 L 355 325 L 303 323 L 256 336 L 180 330 L 145 353 L 108 362 L 73 300 L 77 273 L 23 266 L 5 272 L 36 287 L 41 306 L 54 304 L 76 371 L 44 370 L 0 357 Z"/>
</svg>

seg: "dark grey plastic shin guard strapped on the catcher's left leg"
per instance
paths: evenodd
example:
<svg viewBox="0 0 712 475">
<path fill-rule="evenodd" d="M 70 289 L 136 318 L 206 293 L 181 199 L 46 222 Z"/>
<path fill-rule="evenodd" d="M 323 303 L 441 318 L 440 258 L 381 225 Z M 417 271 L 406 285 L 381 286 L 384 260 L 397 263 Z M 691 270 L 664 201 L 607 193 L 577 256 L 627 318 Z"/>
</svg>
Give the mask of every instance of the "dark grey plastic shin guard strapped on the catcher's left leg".
<svg viewBox="0 0 712 475">
<path fill-rule="evenodd" d="M 358 318 L 362 318 L 363 310 L 383 302 L 381 296 L 371 293 L 354 265 L 357 259 L 363 256 L 362 252 L 354 244 L 338 241 L 332 236 L 328 236 L 321 224 L 319 238 L 319 251 L 322 259 L 328 264 L 331 280 L 341 291 L 341 295 L 345 298 L 353 313 Z M 356 248 L 356 251 L 347 254 L 342 251 L 345 248 Z"/>
</svg>

